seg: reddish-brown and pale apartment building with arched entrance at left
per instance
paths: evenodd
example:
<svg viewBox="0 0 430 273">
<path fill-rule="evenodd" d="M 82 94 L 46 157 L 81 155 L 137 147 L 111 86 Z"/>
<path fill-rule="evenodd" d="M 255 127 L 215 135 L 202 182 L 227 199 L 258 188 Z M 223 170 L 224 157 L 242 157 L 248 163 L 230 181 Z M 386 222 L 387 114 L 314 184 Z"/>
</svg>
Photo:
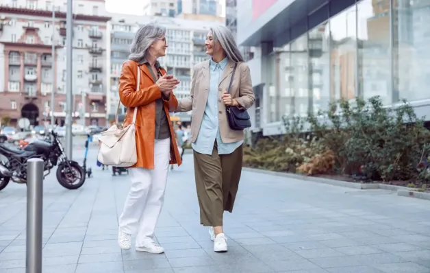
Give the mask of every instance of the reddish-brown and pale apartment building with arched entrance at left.
<svg viewBox="0 0 430 273">
<path fill-rule="evenodd" d="M 106 123 L 104 1 L 75 0 L 73 24 L 73 121 Z M 55 10 L 55 19 L 52 13 Z M 51 45 L 55 54 L 51 54 Z M 3 0 L 0 3 L 0 116 L 12 125 L 66 117 L 66 1 Z M 55 104 L 51 105 L 51 92 Z"/>
</svg>

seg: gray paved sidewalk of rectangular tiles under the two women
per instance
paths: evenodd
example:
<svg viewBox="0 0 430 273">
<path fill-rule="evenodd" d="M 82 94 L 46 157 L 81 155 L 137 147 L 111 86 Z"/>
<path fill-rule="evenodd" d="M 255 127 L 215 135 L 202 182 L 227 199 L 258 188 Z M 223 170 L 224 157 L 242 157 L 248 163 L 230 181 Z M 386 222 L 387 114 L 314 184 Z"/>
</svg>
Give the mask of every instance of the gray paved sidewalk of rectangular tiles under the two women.
<svg viewBox="0 0 430 273">
<path fill-rule="evenodd" d="M 430 272 L 430 202 L 249 172 L 233 214 L 225 215 L 229 252 L 216 254 L 199 225 L 192 156 L 184 161 L 168 178 L 156 230 L 165 254 L 116 244 L 127 176 L 97 169 L 84 187 L 68 191 L 51 174 L 43 273 Z M 0 191 L 1 273 L 25 272 L 25 194 L 25 185 Z"/>
</svg>

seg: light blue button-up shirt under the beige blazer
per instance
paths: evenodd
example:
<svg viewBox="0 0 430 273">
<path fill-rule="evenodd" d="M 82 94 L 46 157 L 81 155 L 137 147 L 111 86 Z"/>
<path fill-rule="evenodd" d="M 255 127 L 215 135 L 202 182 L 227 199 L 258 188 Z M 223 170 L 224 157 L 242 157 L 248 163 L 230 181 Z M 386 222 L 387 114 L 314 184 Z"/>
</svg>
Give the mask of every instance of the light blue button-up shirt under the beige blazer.
<svg viewBox="0 0 430 273">
<path fill-rule="evenodd" d="M 197 140 L 191 145 L 192 149 L 200 154 L 212 154 L 215 140 L 218 145 L 218 154 L 231 154 L 243 143 L 243 141 L 223 143 L 221 139 L 218 123 L 218 85 L 226 65 L 227 58 L 219 63 L 214 62 L 212 59 L 210 60 L 210 85 L 205 112 L 203 112 L 203 120 L 201 121 Z"/>
</svg>

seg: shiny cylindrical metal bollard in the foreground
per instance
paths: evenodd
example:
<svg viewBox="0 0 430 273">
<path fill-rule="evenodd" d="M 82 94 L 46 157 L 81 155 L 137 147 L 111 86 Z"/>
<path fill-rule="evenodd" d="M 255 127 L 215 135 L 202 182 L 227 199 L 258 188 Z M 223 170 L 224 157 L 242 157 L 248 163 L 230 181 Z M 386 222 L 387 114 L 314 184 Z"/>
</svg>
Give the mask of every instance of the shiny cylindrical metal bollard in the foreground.
<svg viewBox="0 0 430 273">
<path fill-rule="evenodd" d="M 43 161 L 27 161 L 26 273 L 42 273 Z"/>
</svg>

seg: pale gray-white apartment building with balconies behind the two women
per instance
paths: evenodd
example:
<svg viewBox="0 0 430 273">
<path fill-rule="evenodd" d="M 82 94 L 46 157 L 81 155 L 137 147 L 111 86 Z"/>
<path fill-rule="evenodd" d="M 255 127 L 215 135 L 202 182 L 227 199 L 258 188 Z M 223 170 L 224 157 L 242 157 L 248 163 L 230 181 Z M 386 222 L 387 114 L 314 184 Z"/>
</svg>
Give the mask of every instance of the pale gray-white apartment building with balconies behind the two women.
<svg viewBox="0 0 430 273">
<path fill-rule="evenodd" d="M 178 99 L 190 94 L 190 84 L 194 64 L 207 60 L 205 36 L 211 25 L 218 22 L 195 21 L 162 16 L 130 16 L 110 14 L 110 82 L 108 92 L 109 119 L 114 119 L 119 102 L 118 80 L 123 62 L 127 60 L 131 43 L 138 28 L 147 23 L 156 23 L 166 27 L 167 55 L 160 58 L 160 63 L 168 73 L 175 75 L 181 83 L 174 93 Z M 125 115 L 125 108 L 120 109 L 120 119 Z M 190 121 L 189 113 L 175 114 L 173 119 Z"/>
</svg>

